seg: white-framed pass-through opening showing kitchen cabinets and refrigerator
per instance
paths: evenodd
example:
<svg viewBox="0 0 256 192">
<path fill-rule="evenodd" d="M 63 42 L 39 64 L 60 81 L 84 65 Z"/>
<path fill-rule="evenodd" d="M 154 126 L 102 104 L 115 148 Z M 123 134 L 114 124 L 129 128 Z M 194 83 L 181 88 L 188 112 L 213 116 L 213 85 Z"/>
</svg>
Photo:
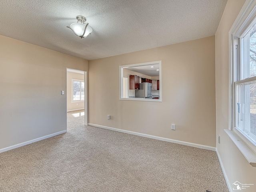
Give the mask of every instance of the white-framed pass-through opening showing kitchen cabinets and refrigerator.
<svg viewBox="0 0 256 192">
<path fill-rule="evenodd" d="M 119 66 L 120 100 L 162 101 L 162 61 Z"/>
</svg>

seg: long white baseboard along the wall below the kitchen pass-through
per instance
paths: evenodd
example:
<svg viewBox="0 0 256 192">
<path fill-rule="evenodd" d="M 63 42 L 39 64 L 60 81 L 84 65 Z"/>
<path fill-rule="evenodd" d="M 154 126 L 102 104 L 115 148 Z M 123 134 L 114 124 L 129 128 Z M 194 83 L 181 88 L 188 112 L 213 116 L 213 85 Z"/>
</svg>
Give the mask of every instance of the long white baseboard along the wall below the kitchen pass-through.
<svg viewBox="0 0 256 192">
<path fill-rule="evenodd" d="M 89 125 L 94 126 L 94 127 L 119 131 L 119 132 L 123 132 L 123 133 L 128 133 L 128 134 L 132 134 L 132 135 L 138 135 L 138 136 L 142 136 L 142 137 L 152 138 L 152 139 L 156 139 L 156 140 L 167 141 L 167 142 L 171 142 L 171 143 L 176 143 L 176 144 L 181 144 L 181 145 L 186 145 L 186 146 L 191 146 L 191 147 L 196 147 L 196 148 L 201 148 L 201 149 L 207 149 L 207 150 L 211 150 L 211 151 L 216 151 L 216 148 L 211 147 L 211 146 L 200 145 L 200 144 L 195 144 L 195 143 L 190 143 L 190 142 L 185 142 L 185 141 L 179 141 L 179 140 L 174 140 L 174 139 L 169 139 L 169 138 L 164 138 L 164 137 L 158 137 L 158 136 L 154 136 L 154 135 L 148 135 L 148 134 L 143 134 L 143 133 L 138 133 L 138 132 L 133 132 L 133 131 L 127 131 L 127 130 L 112 128 L 112 127 L 107 127 L 107 126 L 102 126 L 102 125 L 96 125 L 96 124 L 92 124 L 92 123 L 89 123 Z"/>
</svg>

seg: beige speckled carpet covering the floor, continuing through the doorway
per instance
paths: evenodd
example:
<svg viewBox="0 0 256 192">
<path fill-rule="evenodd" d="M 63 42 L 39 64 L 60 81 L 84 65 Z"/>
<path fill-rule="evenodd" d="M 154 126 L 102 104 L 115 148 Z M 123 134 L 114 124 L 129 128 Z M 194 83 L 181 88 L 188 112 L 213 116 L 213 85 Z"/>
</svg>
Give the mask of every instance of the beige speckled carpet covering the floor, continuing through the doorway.
<svg viewBox="0 0 256 192">
<path fill-rule="evenodd" d="M 83 126 L 0 154 L 1 192 L 228 192 L 215 152 Z M 76 121 L 77 120 L 77 121 Z"/>
</svg>

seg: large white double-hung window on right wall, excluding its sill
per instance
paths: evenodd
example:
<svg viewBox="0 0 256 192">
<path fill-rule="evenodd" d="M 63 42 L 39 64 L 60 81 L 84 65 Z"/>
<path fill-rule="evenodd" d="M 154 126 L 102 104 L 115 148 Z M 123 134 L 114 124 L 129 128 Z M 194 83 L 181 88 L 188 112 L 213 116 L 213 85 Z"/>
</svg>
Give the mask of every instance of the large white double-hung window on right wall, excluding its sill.
<svg viewBox="0 0 256 192">
<path fill-rule="evenodd" d="M 256 12 L 252 3 L 247 11 L 248 15 L 242 19 L 238 16 L 230 30 L 231 129 L 238 131 L 249 146 L 256 146 Z"/>
</svg>

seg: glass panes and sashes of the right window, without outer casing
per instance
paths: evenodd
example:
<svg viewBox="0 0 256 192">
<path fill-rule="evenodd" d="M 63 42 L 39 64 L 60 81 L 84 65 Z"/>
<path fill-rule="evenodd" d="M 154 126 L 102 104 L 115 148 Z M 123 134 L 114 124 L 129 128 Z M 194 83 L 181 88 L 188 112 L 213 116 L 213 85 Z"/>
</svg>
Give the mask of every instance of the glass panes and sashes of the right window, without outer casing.
<svg viewBox="0 0 256 192">
<path fill-rule="evenodd" d="M 235 127 L 256 142 L 256 25 L 238 38 L 236 54 Z"/>
</svg>

